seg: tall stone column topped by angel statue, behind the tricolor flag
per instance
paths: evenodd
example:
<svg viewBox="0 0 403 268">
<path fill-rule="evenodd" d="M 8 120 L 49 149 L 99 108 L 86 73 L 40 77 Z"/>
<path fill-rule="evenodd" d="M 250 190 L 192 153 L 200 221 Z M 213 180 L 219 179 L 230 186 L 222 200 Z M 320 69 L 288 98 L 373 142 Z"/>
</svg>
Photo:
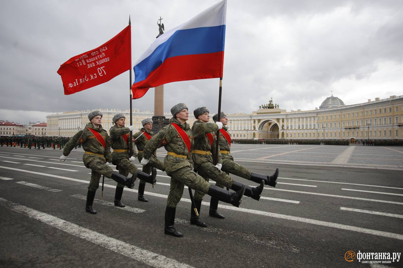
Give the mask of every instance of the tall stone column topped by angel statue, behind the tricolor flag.
<svg viewBox="0 0 403 268">
<path fill-rule="evenodd" d="M 161 23 L 162 18 L 157 21 L 158 30 L 160 33 L 158 37 L 164 33 L 164 23 Z M 154 90 L 154 116 L 152 117 L 152 132 L 156 134 L 160 131 L 164 126 L 169 124 L 169 120 L 164 116 L 164 85 L 160 85 L 155 87 Z"/>
</svg>

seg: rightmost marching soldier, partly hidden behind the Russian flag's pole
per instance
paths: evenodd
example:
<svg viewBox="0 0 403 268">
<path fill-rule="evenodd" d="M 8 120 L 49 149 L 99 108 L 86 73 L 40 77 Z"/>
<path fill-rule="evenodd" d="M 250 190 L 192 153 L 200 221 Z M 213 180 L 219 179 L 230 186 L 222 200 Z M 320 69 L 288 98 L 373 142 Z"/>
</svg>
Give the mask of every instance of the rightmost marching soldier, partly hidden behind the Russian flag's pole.
<svg viewBox="0 0 403 268">
<path fill-rule="evenodd" d="M 214 122 L 218 121 L 218 113 L 213 116 Z M 228 124 L 228 118 L 224 112 L 220 113 L 220 122 L 222 123 L 223 127 L 220 130 L 220 137 L 219 137 L 219 150 L 222 159 L 222 168 L 221 170 L 227 173 L 231 173 L 237 175 L 239 177 L 248 179 L 250 181 L 261 183 L 262 180 L 264 181 L 265 185 L 276 187 L 276 179 L 278 177 L 278 168 L 273 173 L 273 175 L 263 175 L 259 173 L 254 173 L 249 171 L 246 167 L 238 165 L 234 162 L 234 158 L 232 157 L 230 150 L 231 150 L 231 137 L 228 134 L 228 128 L 226 125 Z M 227 138 L 229 140 L 227 140 Z M 222 184 L 216 184 L 218 187 L 223 187 Z M 246 195 L 246 194 L 245 194 Z M 216 217 L 218 219 L 224 219 L 225 217 L 217 212 L 218 208 L 218 200 L 216 198 L 211 198 L 210 200 L 210 211 L 209 214 L 212 217 Z"/>
</svg>

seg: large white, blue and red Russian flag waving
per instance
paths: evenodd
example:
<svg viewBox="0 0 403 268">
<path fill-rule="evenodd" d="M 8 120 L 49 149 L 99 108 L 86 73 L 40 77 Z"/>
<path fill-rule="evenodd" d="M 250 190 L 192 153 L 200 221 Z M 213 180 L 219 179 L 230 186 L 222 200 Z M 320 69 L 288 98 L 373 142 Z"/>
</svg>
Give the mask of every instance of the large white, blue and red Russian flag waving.
<svg viewBox="0 0 403 268">
<path fill-rule="evenodd" d="M 160 35 L 134 65 L 133 99 L 170 82 L 222 77 L 225 16 L 226 0 Z"/>
</svg>

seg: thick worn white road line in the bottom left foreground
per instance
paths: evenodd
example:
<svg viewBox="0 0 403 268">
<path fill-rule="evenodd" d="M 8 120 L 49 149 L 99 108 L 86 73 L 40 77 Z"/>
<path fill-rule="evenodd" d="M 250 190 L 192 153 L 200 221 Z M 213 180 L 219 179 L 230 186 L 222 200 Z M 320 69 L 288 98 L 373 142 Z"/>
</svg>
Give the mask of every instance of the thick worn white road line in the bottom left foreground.
<svg viewBox="0 0 403 268">
<path fill-rule="evenodd" d="M 108 237 L 101 233 L 91 231 L 90 229 L 81 227 L 69 221 L 65 221 L 63 219 L 57 218 L 55 216 L 46 214 L 44 212 L 40 212 L 38 210 L 34 210 L 32 208 L 28 208 L 26 206 L 22 206 L 17 203 L 10 202 L 4 198 L 0 198 L 0 204 L 10 210 L 14 210 L 15 212 L 19 212 L 25 216 L 28 216 L 32 219 L 41 221 L 42 223 L 46 223 L 52 227 L 60 229 L 66 233 L 71 235 L 75 235 L 82 239 L 85 239 L 91 243 L 96 245 L 100 245 L 106 249 L 110 249 L 113 252 L 122 254 L 144 264 L 154 266 L 154 267 L 184 267 L 191 268 L 185 263 L 178 262 L 176 260 L 167 258 L 163 255 L 156 254 L 154 252 L 142 249 L 140 247 L 136 247 L 135 245 L 131 245 L 129 243 L 125 243 L 118 239 L 114 239 L 112 237 Z"/>
</svg>

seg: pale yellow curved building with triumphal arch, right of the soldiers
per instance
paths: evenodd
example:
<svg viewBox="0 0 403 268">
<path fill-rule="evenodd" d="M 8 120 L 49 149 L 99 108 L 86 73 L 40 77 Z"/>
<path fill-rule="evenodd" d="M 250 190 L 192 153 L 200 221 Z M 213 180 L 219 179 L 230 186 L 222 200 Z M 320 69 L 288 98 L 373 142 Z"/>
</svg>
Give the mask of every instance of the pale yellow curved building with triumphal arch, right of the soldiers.
<svg viewBox="0 0 403 268">
<path fill-rule="evenodd" d="M 270 105 L 272 107 L 270 107 Z M 327 98 L 320 109 L 290 111 L 262 105 L 251 114 L 228 114 L 232 138 L 394 140 L 403 138 L 403 96 L 344 105 Z M 269 108 L 270 107 L 270 108 Z"/>
</svg>

